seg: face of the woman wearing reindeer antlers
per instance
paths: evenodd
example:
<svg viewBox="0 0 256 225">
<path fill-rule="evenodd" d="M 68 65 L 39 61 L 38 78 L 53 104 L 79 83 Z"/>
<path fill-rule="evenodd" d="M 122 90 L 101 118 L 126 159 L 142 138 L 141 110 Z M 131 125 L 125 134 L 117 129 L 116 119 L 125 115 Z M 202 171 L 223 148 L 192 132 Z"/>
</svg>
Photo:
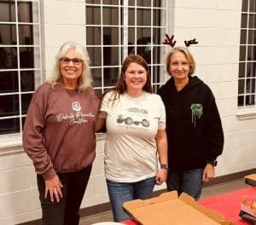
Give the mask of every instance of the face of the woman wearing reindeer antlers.
<svg viewBox="0 0 256 225">
<path fill-rule="evenodd" d="M 189 61 L 182 52 L 176 51 L 172 54 L 169 70 L 176 81 L 182 82 L 189 79 Z"/>
</svg>

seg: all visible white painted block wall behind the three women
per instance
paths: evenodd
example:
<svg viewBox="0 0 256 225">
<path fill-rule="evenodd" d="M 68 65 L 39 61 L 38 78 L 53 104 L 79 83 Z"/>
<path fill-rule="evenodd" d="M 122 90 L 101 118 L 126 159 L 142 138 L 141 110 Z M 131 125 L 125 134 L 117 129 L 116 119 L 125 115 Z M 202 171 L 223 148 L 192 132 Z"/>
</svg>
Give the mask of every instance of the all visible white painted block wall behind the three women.
<svg viewBox="0 0 256 225">
<path fill-rule="evenodd" d="M 85 43 L 84 0 L 44 0 L 42 12 L 43 72 L 49 74 L 61 43 Z M 177 45 L 192 38 L 199 41 L 191 47 L 197 62 L 195 75 L 209 84 L 217 99 L 225 135 L 217 175 L 255 168 L 256 120 L 236 117 L 241 0 L 177 0 L 169 12 L 168 33 L 175 35 Z M 104 139 L 98 137 L 96 161 L 82 207 L 108 202 L 103 146 Z M 15 149 L 18 153 L 6 150 L 0 154 L 0 224 L 38 219 L 41 211 L 32 162 L 21 147 Z"/>
</svg>

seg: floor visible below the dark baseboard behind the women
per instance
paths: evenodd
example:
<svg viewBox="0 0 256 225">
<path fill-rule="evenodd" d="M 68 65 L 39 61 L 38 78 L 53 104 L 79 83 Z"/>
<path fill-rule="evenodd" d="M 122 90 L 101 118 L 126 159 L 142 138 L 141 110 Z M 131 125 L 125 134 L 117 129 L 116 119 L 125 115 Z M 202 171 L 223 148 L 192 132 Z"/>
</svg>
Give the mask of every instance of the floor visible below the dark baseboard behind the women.
<svg viewBox="0 0 256 225">
<path fill-rule="evenodd" d="M 218 195 L 220 193 L 227 193 L 230 191 L 236 191 L 241 188 L 248 187 L 247 184 L 245 184 L 244 180 L 236 180 L 232 182 L 226 182 L 210 187 L 204 187 L 201 199 L 206 199 L 215 195 Z M 112 222 L 112 213 L 111 211 L 100 213 L 94 216 L 88 216 L 81 218 L 79 225 L 91 225 L 96 222 Z"/>
</svg>

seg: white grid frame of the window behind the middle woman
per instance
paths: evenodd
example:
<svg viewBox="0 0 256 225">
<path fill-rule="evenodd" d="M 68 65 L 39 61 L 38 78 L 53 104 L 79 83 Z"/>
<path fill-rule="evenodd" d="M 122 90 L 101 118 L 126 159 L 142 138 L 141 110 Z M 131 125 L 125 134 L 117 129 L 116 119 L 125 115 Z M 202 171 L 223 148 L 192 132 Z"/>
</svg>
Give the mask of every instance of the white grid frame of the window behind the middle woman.
<svg viewBox="0 0 256 225">
<path fill-rule="evenodd" d="M 131 2 L 131 1 L 130 1 Z M 117 79 L 119 76 L 119 72 L 121 69 L 121 64 L 122 61 L 125 59 L 125 56 L 128 55 L 128 49 L 131 47 L 131 43 L 128 43 L 128 30 L 129 29 L 137 29 L 137 28 L 149 28 L 150 29 L 150 42 L 147 45 L 140 45 L 137 43 L 137 32 L 135 31 L 134 35 L 134 40 L 135 42 L 132 44 L 132 47 L 135 49 L 135 54 L 137 53 L 137 49 L 138 47 L 143 47 L 143 48 L 148 48 L 148 49 L 154 49 L 154 48 L 159 48 L 159 63 L 153 63 L 153 51 L 150 50 L 150 63 L 148 63 L 148 66 L 150 67 L 150 75 L 151 75 L 151 82 L 153 84 L 154 90 L 158 89 L 160 87 L 161 84 L 164 84 L 166 82 L 166 66 L 164 64 L 165 62 L 165 57 L 166 57 L 166 52 L 167 52 L 167 47 L 166 45 L 164 45 L 162 43 L 162 40 L 165 37 L 165 34 L 167 32 L 167 10 L 168 10 L 168 3 L 169 1 L 160 1 L 162 5 L 160 5 L 160 7 L 157 7 L 154 5 L 154 0 L 151 0 L 151 4 L 150 6 L 143 6 L 143 5 L 137 5 L 137 0 L 134 1 L 134 4 L 131 5 L 131 3 L 129 3 L 128 0 L 124 0 L 123 1 L 123 5 L 120 4 L 104 4 L 104 3 L 91 3 L 91 1 L 86 1 L 85 3 L 85 16 L 88 13 L 87 11 L 87 7 L 97 7 L 100 10 L 100 14 L 101 14 L 101 21 L 100 24 L 90 24 L 85 20 L 85 31 L 87 33 L 87 28 L 89 27 L 100 27 L 101 31 L 101 42 L 100 44 L 91 44 L 91 43 L 87 43 L 87 39 L 85 40 L 86 43 L 86 47 L 87 49 L 90 48 L 100 48 L 101 52 L 101 63 L 99 66 L 94 66 L 91 65 L 90 68 L 92 70 L 92 75 L 93 78 L 96 78 L 96 75 L 94 74 L 93 70 L 94 69 L 100 69 L 101 72 L 98 72 L 100 74 L 100 78 L 101 78 L 101 84 L 100 85 L 94 85 L 94 89 L 96 90 L 97 95 L 100 95 L 105 89 L 111 88 L 113 87 L 114 84 L 112 85 L 104 85 L 104 69 L 106 70 L 106 68 L 118 68 L 118 72 L 117 74 L 114 74 L 115 78 Z M 143 2 L 142 2 L 143 3 Z M 164 6 L 163 6 L 164 4 Z M 103 20 L 102 20 L 102 12 L 104 8 L 113 8 L 113 9 L 118 9 L 119 12 L 119 19 L 118 19 L 118 23 L 117 25 L 106 25 L 103 24 Z M 128 17 L 128 10 L 129 9 L 134 9 L 134 13 L 135 13 L 135 17 L 134 17 L 134 24 L 130 25 L 129 24 L 129 17 Z M 149 21 L 150 25 L 147 26 L 141 26 L 141 25 L 137 25 L 137 9 L 139 10 L 150 10 L 150 18 L 151 20 Z M 154 10 L 160 10 L 161 11 L 161 23 L 159 26 L 155 26 L 154 25 L 154 20 L 153 20 L 153 16 L 154 16 Z M 119 42 L 117 44 L 110 44 L 110 45 L 105 45 L 102 37 L 103 37 L 103 29 L 106 27 L 115 27 L 117 29 L 119 29 Z M 160 38 L 159 38 L 159 43 L 154 43 L 154 35 L 153 35 L 153 31 L 154 29 L 160 29 Z M 109 47 L 109 48 L 113 48 L 116 47 L 118 48 L 118 52 L 119 52 L 119 59 L 118 59 L 118 63 L 116 65 L 111 65 L 111 66 L 106 66 L 104 65 L 104 61 L 103 61 L 103 48 L 105 47 Z M 95 60 L 95 57 L 93 57 L 90 54 L 90 50 L 89 50 L 89 55 L 92 60 Z M 159 73 L 157 74 L 158 78 L 156 78 L 154 76 L 154 69 L 157 70 L 156 66 L 159 66 Z M 154 79 L 156 81 L 154 81 Z"/>
</svg>

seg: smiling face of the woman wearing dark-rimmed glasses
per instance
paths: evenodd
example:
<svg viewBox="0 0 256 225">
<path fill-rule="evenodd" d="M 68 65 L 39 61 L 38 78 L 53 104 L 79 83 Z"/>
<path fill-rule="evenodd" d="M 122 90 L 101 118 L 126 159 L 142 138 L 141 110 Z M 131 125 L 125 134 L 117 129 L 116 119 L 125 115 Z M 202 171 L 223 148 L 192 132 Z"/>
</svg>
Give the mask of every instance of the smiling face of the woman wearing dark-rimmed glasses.
<svg viewBox="0 0 256 225">
<path fill-rule="evenodd" d="M 76 85 L 78 83 L 79 77 L 82 74 L 83 61 L 79 62 L 79 59 L 76 57 L 74 49 L 68 49 L 67 54 L 64 55 L 61 59 L 62 60 L 60 60 L 60 69 L 63 78 L 63 85 Z"/>
</svg>

